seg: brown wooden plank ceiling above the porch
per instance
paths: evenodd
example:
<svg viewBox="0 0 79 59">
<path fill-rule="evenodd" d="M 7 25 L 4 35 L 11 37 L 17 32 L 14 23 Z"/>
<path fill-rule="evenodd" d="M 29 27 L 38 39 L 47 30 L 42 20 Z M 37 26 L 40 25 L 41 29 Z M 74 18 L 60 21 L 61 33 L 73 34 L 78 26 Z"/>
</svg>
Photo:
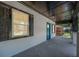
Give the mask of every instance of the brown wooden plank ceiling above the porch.
<svg viewBox="0 0 79 59">
<path fill-rule="evenodd" d="M 70 20 L 70 2 L 67 1 L 21 1 L 53 21 Z"/>
</svg>

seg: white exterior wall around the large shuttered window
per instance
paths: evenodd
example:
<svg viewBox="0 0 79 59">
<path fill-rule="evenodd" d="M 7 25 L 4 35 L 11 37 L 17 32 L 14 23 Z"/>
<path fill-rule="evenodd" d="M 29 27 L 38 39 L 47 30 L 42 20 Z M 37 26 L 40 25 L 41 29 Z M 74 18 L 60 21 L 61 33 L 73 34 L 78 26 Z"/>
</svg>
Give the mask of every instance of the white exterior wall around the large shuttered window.
<svg viewBox="0 0 79 59">
<path fill-rule="evenodd" d="M 13 56 L 19 52 L 22 52 L 46 41 L 46 22 L 55 24 L 53 21 L 42 16 L 28 6 L 20 4 L 19 2 L 12 1 L 3 3 L 26 11 L 34 16 L 34 35 L 32 37 L 25 37 L 0 42 L 0 56 Z"/>
</svg>

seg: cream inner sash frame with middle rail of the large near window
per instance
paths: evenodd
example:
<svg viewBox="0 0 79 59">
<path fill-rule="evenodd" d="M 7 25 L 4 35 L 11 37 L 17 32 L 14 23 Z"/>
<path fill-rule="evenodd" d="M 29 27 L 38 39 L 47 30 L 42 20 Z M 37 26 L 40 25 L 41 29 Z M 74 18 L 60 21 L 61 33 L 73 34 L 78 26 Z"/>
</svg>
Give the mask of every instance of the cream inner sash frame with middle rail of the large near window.
<svg viewBox="0 0 79 59">
<path fill-rule="evenodd" d="M 15 32 L 15 30 L 14 30 L 14 26 L 23 26 L 24 28 L 26 27 L 26 26 L 28 26 L 29 27 L 29 25 L 25 25 L 25 24 L 20 24 L 20 23 L 15 23 L 14 21 L 16 21 L 17 19 L 13 19 L 13 17 L 16 15 L 16 14 L 14 14 L 13 15 L 13 12 L 20 12 L 22 15 L 28 15 L 28 24 L 29 24 L 29 14 L 27 14 L 27 13 L 24 13 L 24 12 L 22 12 L 22 11 L 19 11 L 19 10 L 16 10 L 16 9 L 14 9 L 14 8 L 12 8 L 11 9 L 12 10 L 12 37 L 19 37 L 19 36 L 29 36 L 29 31 L 28 31 L 28 35 L 15 35 L 15 34 L 13 34 L 14 32 Z M 18 17 L 19 18 L 19 17 Z M 18 27 L 18 28 L 20 28 L 20 27 Z M 28 30 L 29 30 L 29 28 L 27 28 Z M 20 31 L 22 31 L 23 33 L 24 33 L 24 31 L 23 30 L 20 30 Z"/>
</svg>

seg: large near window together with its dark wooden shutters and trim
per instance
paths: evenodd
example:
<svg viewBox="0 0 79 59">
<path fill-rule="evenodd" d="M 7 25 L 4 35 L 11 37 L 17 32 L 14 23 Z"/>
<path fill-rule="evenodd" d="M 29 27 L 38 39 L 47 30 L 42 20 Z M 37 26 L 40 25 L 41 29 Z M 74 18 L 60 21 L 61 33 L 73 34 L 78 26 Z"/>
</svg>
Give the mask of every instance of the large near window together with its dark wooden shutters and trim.
<svg viewBox="0 0 79 59">
<path fill-rule="evenodd" d="M 17 8 L 0 4 L 0 41 L 33 36 L 34 16 Z"/>
</svg>

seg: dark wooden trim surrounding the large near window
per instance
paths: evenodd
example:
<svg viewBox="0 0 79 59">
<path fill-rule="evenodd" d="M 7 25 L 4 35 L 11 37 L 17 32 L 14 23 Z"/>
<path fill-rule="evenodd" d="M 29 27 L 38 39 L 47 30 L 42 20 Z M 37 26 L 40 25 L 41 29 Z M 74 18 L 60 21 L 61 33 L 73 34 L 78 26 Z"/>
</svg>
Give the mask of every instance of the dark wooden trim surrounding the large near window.
<svg viewBox="0 0 79 59">
<path fill-rule="evenodd" d="M 18 39 L 18 38 L 24 38 L 24 37 L 31 37 L 31 36 L 33 36 L 33 30 L 34 30 L 34 26 L 32 27 L 33 29 L 31 29 L 30 30 L 30 20 L 33 20 L 34 21 L 34 16 L 32 15 L 32 14 L 30 14 L 30 13 L 27 13 L 27 12 L 25 12 L 25 11 L 23 11 L 23 10 L 20 10 L 20 9 L 18 9 L 18 8 L 15 8 L 15 7 L 12 7 L 11 8 L 11 20 L 13 21 L 13 19 L 12 19 L 12 9 L 15 9 L 15 10 L 17 10 L 17 11 L 20 11 L 20 12 L 22 12 L 22 13 L 25 13 L 25 14 L 28 14 L 29 15 L 29 35 L 20 35 L 20 36 L 15 36 L 15 37 L 12 37 L 12 34 L 11 34 L 11 38 L 12 39 Z M 31 17 L 32 16 L 32 17 Z M 13 23 L 13 22 L 12 22 Z M 13 24 L 11 24 L 12 25 L 12 27 L 13 27 Z M 34 24 L 32 24 L 32 25 L 34 25 Z M 12 29 L 12 28 L 11 28 Z M 32 34 L 31 34 L 31 32 L 32 32 Z M 12 32 L 12 31 L 11 31 Z"/>
</svg>

